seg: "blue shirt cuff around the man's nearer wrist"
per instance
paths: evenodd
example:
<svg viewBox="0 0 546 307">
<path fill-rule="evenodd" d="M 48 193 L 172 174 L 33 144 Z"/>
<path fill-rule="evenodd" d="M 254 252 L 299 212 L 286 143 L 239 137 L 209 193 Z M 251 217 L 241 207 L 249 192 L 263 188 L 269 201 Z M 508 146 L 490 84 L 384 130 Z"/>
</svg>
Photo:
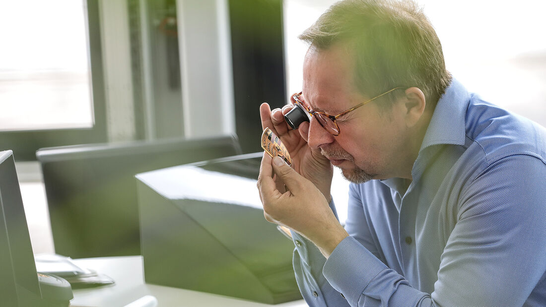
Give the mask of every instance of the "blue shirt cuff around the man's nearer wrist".
<svg viewBox="0 0 546 307">
<path fill-rule="evenodd" d="M 322 272 L 330 285 L 353 305 L 375 276 L 387 268 L 355 238 L 348 236 L 337 244 Z"/>
</svg>

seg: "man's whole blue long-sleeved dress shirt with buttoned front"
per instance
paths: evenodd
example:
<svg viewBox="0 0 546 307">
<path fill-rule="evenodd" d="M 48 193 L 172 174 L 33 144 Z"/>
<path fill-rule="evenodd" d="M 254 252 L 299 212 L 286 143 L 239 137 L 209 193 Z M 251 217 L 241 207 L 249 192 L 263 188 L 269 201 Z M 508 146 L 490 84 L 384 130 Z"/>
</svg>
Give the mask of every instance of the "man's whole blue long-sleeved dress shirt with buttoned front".
<svg viewBox="0 0 546 307">
<path fill-rule="evenodd" d="M 306 302 L 546 306 L 545 142 L 543 127 L 453 81 L 409 186 L 401 178 L 351 184 L 350 236 L 328 260 L 292 233 Z"/>
</svg>

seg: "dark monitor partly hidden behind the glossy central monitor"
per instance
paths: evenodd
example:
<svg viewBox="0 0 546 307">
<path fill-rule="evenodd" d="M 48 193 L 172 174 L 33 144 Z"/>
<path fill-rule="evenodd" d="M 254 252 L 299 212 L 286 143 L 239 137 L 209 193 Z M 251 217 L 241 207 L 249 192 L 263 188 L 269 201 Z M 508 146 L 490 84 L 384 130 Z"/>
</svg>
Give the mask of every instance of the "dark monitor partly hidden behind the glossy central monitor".
<svg viewBox="0 0 546 307">
<path fill-rule="evenodd" d="M 240 152 L 232 136 L 40 149 L 55 252 L 140 255 L 134 175 Z"/>
</svg>

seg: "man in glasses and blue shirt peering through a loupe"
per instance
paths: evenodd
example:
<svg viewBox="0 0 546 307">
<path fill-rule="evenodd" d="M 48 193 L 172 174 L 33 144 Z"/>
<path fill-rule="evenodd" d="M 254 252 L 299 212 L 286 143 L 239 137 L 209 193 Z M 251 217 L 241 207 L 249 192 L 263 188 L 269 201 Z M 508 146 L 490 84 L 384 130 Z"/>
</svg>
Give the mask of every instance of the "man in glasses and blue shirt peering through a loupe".
<svg viewBox="0 0 546 307">
<path fill-rule="evenodd" d="M 342 1 L 300 38 L 310 122 L 260 106 L 293 168 L 264 154 L 258 189 L 306 302 L 546 306 L 545 129 L 452 80 L 411 2 Z M 332 165 L 352 182 L 345 228 Z"/>
</svg>

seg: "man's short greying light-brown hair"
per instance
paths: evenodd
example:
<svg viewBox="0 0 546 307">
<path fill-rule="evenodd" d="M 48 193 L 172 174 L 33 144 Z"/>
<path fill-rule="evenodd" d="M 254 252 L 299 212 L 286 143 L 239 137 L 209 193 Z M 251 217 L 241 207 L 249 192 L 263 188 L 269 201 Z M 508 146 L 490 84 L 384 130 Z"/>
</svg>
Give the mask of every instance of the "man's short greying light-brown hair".
<svg viewBox="0 0 546 307">
<path fill-rule="evenodd" d="M 355 86 L 368 96 L 398 86 L 418 87 L 434 108 L 452 80 L 434 28 L 411 0 L 337 2 L 299 39 L 318 50 L 348 44 Z"/>
</svg>

